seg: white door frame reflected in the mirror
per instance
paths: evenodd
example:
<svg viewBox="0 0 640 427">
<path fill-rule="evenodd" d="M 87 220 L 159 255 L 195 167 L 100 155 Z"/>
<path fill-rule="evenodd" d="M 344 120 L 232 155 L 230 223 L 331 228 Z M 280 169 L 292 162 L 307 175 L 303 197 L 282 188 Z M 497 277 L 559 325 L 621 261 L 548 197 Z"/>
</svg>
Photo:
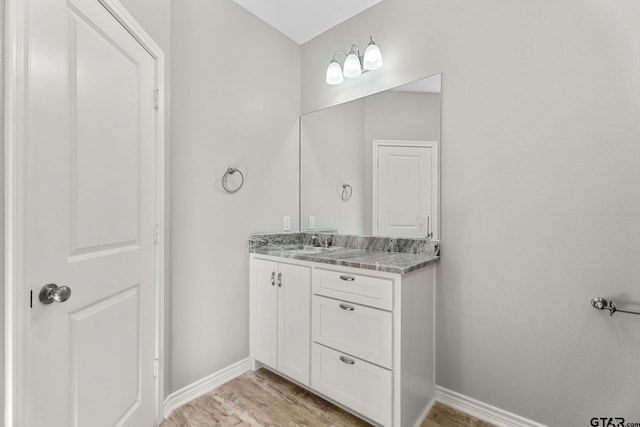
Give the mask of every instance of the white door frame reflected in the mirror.
<svg viewBox="0 0 640 427">
<path fill-rule="evenodd" d="M 433 185 L 431 192 L 431 232 L 433 239 L 438 239 L 439 232 L 439 200 L 440 200 L 440 156 L 438 154 L 438 141 L 418 141 L 402 139 L 374 139 L 372 140 L 372 163 L 371 163 L 371 230 L 373 235 L 378 235 L 378 148 L 380 147 L 424 147 L 433 150 L 431 156 L 431 177 L 437 182 Z"/>
</svg>

